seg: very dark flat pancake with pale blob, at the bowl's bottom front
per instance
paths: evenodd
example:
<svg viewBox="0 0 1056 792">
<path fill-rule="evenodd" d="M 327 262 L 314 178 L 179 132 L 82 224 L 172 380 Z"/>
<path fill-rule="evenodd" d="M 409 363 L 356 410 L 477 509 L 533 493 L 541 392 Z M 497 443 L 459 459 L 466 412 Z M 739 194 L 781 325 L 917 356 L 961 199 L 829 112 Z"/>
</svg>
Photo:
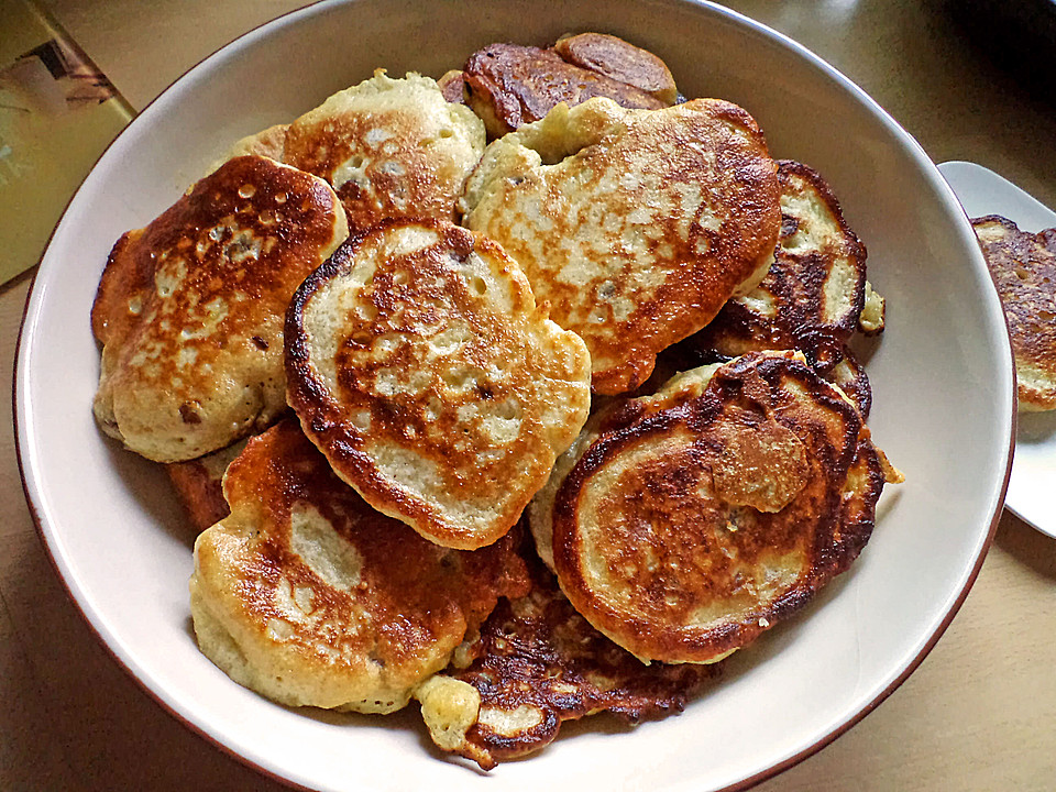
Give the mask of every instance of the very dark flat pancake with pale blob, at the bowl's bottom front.
<svg viewBox="0 0 1056 792">
<path fill-rule="evenodd" d="M 530 551 L 529 551 L 530 552 Z M 609 712 L 630 724 L 682 711 L 721 667 L 644 664 L 595 630 L 529 561 L 532 588 L 503 601 L 455 664 L 415 693 L 433 741 L 491 769 L 541 750 L 561 724 Z"/>
</svg>

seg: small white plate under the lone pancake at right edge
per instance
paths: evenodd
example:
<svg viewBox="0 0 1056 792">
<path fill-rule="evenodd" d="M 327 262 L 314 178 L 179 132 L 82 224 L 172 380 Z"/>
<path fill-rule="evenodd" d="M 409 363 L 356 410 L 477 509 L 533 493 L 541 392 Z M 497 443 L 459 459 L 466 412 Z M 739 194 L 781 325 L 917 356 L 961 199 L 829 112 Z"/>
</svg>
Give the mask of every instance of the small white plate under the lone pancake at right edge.
<svg viewBox="0 0 1056 792">
<path fill-rule="evenodd" d="M 975 163 L 938 166 L 970 218 L 1001 215 L 1023 231 L 1056 228 L 1056 212 L 1008 179 Z M 1004 505 L 1043 534 L 1056 537 L 1056 411 L 1020 413 L 1015 455 Z"/>
</svg>

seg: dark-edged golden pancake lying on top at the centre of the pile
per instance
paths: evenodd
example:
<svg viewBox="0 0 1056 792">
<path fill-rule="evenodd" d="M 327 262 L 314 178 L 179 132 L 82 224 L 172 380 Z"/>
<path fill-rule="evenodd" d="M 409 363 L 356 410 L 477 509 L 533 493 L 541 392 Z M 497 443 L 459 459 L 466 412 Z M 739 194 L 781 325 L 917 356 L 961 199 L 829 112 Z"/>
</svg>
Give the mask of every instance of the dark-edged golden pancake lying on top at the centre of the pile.
<svg viewBox="0 0 1056 792">
<path fill-rule="evenodd" d="M 461 549 L 503 536 L 590 409 L 583 342 L 491 240 L 393 220 L 295 295 L 288 400 L 375 508 Z"/>
</svg>

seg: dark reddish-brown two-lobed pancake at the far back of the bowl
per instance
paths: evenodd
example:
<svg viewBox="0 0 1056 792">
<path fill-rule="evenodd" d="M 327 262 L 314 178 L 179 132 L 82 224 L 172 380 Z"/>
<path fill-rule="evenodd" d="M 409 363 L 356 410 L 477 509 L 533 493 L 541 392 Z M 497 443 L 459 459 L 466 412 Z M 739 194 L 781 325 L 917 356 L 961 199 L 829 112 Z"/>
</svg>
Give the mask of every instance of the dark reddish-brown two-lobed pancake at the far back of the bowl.
<svg viewBox="0 0 1056 792">
<path fill-rule="evenodd" d="M 554 47 L 490 44 L 461 73 L 464 101 L 491 139 L 542 119 L 558 103 L 606 97 L 627 108 L 673 105 L 674 79 L 652 53 L 616 36 L 584 33 Z"/>
</svg>

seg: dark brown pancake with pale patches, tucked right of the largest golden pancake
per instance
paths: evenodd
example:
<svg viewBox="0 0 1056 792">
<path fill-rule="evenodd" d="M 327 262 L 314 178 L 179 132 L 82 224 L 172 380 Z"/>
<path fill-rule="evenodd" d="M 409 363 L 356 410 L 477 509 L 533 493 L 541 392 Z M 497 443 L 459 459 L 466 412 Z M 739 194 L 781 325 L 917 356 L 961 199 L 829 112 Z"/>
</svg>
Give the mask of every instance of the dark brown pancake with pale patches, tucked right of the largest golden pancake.
<svg viewBox="0 0 1056 792">
<path fill-rule="evenodd" d="M 750 293 L 732 299 L 693 342 L 735 358 L 798 349 L 823 371 L 839 362 L 866 296 L 866 248 L 812 168 L 779 162 L 781 237 Z"/>
</svg>

